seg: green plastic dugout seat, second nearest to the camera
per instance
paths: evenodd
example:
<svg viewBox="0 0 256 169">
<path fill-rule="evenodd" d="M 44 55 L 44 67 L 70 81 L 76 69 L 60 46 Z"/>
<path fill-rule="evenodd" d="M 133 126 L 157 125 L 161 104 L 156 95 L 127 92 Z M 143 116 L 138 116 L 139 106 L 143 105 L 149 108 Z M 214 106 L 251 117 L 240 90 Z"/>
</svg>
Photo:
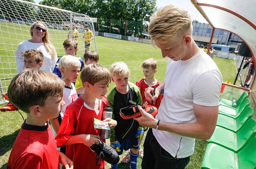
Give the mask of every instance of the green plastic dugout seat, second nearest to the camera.
<svg viewBox="0 0 256 169">
<path fill-rule="evenodd" d="M 238 152 L 255 136 L 255 133 L 256 121 L 254 119 L 250 119 L 237 133 L 224 129 L 220 126 L 216 126 L 212 137 L 208 142 L 215 143 L 231 151 Z"/>
</svg>

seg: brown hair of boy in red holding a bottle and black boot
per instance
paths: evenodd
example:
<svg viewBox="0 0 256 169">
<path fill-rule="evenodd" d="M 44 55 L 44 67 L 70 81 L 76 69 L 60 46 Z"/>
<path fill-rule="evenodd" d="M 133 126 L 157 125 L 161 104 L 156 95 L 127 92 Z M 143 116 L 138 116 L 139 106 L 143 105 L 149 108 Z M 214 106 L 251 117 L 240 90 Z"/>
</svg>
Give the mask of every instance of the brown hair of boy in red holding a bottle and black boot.
<svg viewBox="0 0 256 169">
<path fill-rule="evenodd" d="M 104 66 L 98 63 L 91 63 L 85 66 L 81 71 L 81 81 L 83 85 L 84 82 L 94 85 L 100 81 L 106 81 L 106 84 L 109 84 L 111 81 L 111 75 L 108 69 Z"/>
</svg>

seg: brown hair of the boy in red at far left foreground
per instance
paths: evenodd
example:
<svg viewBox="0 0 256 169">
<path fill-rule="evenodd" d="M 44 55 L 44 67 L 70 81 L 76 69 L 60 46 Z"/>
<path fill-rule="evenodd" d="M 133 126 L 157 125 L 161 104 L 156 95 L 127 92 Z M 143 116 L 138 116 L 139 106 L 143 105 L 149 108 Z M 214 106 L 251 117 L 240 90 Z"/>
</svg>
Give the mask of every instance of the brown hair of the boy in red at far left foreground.
<svg viewBox="0 0 256 169">
<path fill-rule="evenodd" d="M 34 105 L 44 106 L 50 97 L 62 97 L 64 82 L 55 74 L 37 69 L 26 69 L 16 75 L 8 87 L 13 105 L 30 113 Z"/>
</svg>

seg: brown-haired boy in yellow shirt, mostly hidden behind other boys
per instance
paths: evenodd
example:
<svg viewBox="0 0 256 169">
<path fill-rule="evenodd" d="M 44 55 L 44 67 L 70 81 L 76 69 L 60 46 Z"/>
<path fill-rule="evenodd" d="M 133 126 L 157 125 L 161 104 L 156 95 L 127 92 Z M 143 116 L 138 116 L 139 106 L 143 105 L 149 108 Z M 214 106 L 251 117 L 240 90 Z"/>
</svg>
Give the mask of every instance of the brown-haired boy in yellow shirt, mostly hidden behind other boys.
<svg viewBox="0 0 256 169">
<path fill-rule="evenodd" d="M 99 63 L 99 55 L 95 51 L 85 51 L 84 62 L 85 62 L 85 65 L 89 65 L 90 63 Z M 76 87 L 77 94 L 84 93 L 84 86 L 81 80 L 81 72 L 78 75 L 75 87 Z"/>
</svg>

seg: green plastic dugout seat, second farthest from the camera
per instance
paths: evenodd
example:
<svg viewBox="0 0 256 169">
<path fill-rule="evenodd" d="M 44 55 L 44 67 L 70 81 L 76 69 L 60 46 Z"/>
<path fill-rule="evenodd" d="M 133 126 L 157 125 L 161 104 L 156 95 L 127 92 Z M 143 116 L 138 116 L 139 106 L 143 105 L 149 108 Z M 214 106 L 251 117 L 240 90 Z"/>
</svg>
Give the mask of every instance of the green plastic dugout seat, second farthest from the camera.
<svg viewBox="0 0 256 169">
<path fill-rule="evenodd" d="M 250 104 L 250 100 L 245 98 L 236 109 L 220 105 L 219 106 L 219 114 L 224 114 L 228 117 L 232 117 L 232 118 L 236 119 L 242 113 L 244 108 L 247 107 L 249 104 Z"/>
</svg>

